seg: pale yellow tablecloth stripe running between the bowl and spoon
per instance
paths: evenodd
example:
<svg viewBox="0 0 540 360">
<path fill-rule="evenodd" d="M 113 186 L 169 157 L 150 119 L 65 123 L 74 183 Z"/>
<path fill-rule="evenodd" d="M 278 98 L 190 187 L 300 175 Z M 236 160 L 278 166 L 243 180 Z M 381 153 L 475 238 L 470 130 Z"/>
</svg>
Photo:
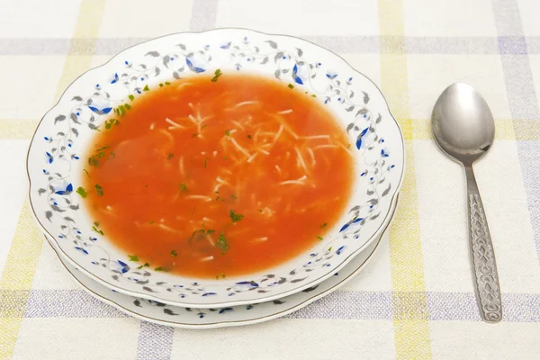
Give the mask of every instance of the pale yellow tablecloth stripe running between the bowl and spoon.
<svg viewBox="0 0 540 360">
<path fill-rule="evenodd" d="M 398 359 L 430 359 L 428 304 L 413 148 L 414 135 L 427 137 L 429 132 L 425 126 L 427 123 L 410 119 L 401 0 L 379 0 L 379 22 L 381 35 L 386 35 L 381 40 L 381 84 L 405 137 L 407 163 L 400 206 L 390 229 L 396 356 Z"/>
</svg>

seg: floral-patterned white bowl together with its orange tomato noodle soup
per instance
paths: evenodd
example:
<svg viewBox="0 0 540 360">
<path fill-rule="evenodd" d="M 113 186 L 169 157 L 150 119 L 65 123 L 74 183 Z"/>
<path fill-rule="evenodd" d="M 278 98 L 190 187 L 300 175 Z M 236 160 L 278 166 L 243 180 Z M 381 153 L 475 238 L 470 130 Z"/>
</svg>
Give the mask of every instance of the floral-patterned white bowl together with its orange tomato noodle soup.
<svg viewBox="0 0 540 360">
<path fill-rule="evenodd" d="M 63 257 L 179 306 L 264 302 L 335 274 L 391 220 L 404 170 L 383 94 L 308 41 L 179 33 L 76 79 L 29 150 Z"/>
</svg>

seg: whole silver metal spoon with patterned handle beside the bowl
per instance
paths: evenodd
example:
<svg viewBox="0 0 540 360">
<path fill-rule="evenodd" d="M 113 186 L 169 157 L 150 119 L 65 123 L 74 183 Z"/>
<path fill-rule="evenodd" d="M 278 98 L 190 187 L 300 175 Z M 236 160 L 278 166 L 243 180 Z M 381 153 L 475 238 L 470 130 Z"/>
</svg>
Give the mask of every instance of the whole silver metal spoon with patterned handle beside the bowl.
<svg viewBox="0 0 540 360">
<path fill-rule="evenodd" d="M 473 173 L 473 162 L 484 156 L 493 144 L 493 116 L 481 94 L 471 85 L 458 83 L 448 86 L 437 99 L 431 128 L 439 148 L 465 168 L 476 299 L 482 319 L 499 322 L 502 319 L 499 275 L 490 229 Z"/>
</svg>

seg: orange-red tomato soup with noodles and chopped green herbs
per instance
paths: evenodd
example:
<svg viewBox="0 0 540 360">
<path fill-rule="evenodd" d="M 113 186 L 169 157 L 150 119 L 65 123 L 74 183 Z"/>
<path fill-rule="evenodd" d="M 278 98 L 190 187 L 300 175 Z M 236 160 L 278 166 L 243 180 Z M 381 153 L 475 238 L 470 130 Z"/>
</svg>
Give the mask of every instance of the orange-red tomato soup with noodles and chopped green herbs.
<svg viewBox="0 0 540 360">
<path fill-rule="evenodd" d="M 145 90 L 100 126 L 77 190 L 131 266 L 221 279 L 324 240 L 354 164 L 318 99 L 252 75 Z"/>
</svg>

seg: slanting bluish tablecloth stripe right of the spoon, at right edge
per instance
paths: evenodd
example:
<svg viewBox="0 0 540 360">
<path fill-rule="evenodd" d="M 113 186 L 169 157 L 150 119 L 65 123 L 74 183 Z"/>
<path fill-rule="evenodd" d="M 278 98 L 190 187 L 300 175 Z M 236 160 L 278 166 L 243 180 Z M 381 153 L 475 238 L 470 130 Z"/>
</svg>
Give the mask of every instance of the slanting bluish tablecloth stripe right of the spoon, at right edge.
<svg viewBox="0 0 540 360">
<path fill-rule="evenodd" d="M 540 109 L 536 96 L 531 65 L 527 55 L 527 41 L 523 38 L 523 25 L 517 0 L 493 0 L 495 25 L 500 35 L 512 41 L 499 40 L 500 60 L 505 77 L 509 98 L 509 110 L 513 120 L 533 120 L 525 124 L 514 122 L 518 157 L 523 173 L 524 187 L 527 194 L 529 218 L 533 229 L 536 255 L 540 261 L 540 170 L 536 159 L 540 156 L 540 146 L 536 141 L 524 141 L 525 134 L 540 132 Z M 540 47 L 536 47 L 540 49 Z M 530 51 L 530 49 L 529 49 Z M 535 163 L 533 161 L 535 160 Z"/>
</svg>

